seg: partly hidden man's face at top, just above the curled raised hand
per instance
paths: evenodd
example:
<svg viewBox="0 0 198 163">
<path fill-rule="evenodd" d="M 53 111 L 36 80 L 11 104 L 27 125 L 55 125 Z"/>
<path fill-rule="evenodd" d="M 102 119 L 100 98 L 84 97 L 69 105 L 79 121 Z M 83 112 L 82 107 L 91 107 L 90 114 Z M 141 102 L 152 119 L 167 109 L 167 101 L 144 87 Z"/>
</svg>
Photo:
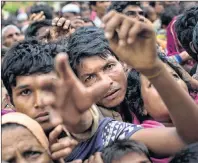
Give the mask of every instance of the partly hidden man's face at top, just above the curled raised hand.
<svg viewBox="0 0 198 163">
<path fill-rule="evenodd" d="M 139 6 L 129 5 L 122 11 L 122 13 L 140 21 L 144 21 L 145 18 L 144 12 Z"/>
</svg>

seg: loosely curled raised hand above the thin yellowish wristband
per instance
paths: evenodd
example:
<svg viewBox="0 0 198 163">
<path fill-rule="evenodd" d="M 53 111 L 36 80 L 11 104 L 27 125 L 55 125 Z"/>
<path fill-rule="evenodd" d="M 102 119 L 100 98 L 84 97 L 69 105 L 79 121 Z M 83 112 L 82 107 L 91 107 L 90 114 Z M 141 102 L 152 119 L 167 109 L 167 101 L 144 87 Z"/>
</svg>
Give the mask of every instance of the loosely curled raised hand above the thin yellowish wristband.
<svg viewBox="0 0 198 163">
<path fill-rule="evenodd" d="M 156 37 L 149 21 L 141 22 L 111 11 L 103 22 L 110 47 L 121 60 L 141 72 L 156 66 Z"/>
</svg>

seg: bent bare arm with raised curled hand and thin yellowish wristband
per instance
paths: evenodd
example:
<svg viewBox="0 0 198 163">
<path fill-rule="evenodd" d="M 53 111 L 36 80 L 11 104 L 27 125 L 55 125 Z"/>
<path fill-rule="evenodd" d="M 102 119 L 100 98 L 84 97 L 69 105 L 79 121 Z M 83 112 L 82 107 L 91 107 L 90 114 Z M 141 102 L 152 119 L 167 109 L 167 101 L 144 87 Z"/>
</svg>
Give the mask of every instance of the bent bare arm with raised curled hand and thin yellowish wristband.
<svg viewBox="0 0 198 163">
<path fill-rule="evenodd" d="M 177 85 L 157 57 L 156 36 L 149 22 L 139 22 L 112 11 L 104 18 L 111 49 L 124 62 L 147 76 L 169 109 L 176 129 L 145 129 L 132 138 L 158 154 L 173 154 L 198 140 L 198 108 Z"/>
</svg>

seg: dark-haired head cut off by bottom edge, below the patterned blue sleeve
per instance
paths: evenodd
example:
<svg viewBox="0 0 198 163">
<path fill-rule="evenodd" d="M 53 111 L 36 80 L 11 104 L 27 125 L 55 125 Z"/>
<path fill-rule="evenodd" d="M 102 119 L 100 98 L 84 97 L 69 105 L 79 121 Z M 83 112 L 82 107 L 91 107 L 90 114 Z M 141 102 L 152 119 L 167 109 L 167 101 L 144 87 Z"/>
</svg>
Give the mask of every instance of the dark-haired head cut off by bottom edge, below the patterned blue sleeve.
<svg viewBox="0 0 198 163">
<path fill-rule="evenodd" d="M 118 140 L 102 151 L 104 163 L 151 163 L 147 147 L 134 140 Z"/>
</svg>

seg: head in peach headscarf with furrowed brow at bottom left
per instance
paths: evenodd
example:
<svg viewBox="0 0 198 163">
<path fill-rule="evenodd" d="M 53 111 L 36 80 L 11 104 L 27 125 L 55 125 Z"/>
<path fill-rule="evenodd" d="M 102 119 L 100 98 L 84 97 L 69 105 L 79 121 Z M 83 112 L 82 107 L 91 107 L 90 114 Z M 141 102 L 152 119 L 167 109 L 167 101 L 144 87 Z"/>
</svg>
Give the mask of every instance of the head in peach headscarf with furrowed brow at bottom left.
<svg viewBox="0 0 198 163">
<path fill-rule="evenodd" d="M 22 113 L 2 116 L 2 160 L 18 163 L 53 163 L 41 126 Z"/>
</svg>

